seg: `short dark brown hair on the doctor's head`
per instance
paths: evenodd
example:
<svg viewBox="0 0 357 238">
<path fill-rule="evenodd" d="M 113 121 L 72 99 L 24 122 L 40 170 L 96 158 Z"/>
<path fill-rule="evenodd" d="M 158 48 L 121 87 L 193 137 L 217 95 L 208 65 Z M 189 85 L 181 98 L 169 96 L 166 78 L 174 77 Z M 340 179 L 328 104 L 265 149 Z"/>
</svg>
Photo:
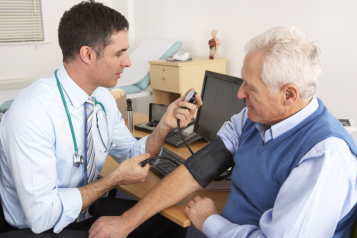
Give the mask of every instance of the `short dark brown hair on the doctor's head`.
<svg viewBox="0 0 357 238">
<path fill-rule="evenodd" d="M 129 29 L 125 17 L 114 9 L 94 0 L 81 2 L 65 11 L 58 27 L 58 41 L 63 62 L 76 59 L 82 46 L 92 48 L 98 59 L 109 45 L 113 33 Z"/>
</svg>

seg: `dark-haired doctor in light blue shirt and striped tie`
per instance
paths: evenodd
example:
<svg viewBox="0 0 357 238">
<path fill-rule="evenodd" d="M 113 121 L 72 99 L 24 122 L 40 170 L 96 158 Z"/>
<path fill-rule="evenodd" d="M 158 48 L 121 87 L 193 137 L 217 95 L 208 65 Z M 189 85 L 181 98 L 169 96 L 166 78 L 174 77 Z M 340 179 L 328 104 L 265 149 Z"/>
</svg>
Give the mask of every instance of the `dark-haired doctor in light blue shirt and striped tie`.
<svg viewBox="0 0 357 238">
<path fill-rule="evenodd" d="M 150 136 L 132 137 L 106 89 L 131 65 L 128 28 L 101 3 L 73 6 L 58 28 L 63 65 L 24 89 L 2 118 L 0 194 L 13 230 L 88 230 L 100 216 L 121 215 L 135 202 L 102 196 L 143 182 L 149 165 L 139 163 L 157 155 L 176 120 L 186 126 L 202 104 L 199 96 L 197 105 L 180 98 Z M 97 181 L 108 153 L 120 165 Z M 185 237 L 186 230 L 156 215 L 131 235 Z"/>
</svg>

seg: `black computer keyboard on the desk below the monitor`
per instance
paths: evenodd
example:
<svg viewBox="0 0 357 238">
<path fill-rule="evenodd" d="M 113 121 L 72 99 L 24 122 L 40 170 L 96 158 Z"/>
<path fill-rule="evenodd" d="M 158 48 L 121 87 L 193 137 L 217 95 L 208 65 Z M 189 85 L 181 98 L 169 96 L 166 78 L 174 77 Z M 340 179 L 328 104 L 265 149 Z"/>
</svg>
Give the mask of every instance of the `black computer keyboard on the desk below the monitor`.
<svg viewBox="0 0 357 238">
<path fill-rule="evenodd" d="M 178 156 L 171 150 L 163 147 L 162 148 L 162 153 L 161 156 L 163 157 L 168 157 L 170 159 L 175 160 L 178 164 L 183 164 L 185 162 L 185 159 L 182 157 Z M 165 177 L 166 175 L 170 174 L 172 171 L 174 171 L 178 166 L 174 163 L 172 163 L 170 160 L 166 159 L 160 159 L 160 162 L 156 166 L 151 166 L 151 171 L 154 172 L 157 176 L 160 178 Z"/>
</svg>

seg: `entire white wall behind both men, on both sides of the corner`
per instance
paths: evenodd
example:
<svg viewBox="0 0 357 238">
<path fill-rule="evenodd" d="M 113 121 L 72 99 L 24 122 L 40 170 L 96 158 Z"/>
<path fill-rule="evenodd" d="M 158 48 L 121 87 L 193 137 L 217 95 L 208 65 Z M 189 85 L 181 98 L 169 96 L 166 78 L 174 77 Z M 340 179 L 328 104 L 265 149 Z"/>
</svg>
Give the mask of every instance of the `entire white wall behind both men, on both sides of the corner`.
<svg viewBox="0 0 357 238">
<path fill-rule="evenodd" d="M 65 10 L 80 0 L 42 1 L 47 44 L 0 44 L 0 80 L 52 74 L 62 63 L 57 28 Z M 294 25 L 321 47 L 322 76 L 317 91 L 337 118 L 357 122 L 357 15 L 354 0 L 102 0 L 130 23 L 129 52 L 144 39 L 181 40 L 183 51 L 207 56 L 210 33 L 218 30 L 227 74 L 240 76 L 245 43 L 277 25 Z M 141 103 L 139 103 L 141 104 Z M 145 105 L 138 105 L 138 107 Z M 352 133 L 357 141 L 357 132 Z"/>
</svg>

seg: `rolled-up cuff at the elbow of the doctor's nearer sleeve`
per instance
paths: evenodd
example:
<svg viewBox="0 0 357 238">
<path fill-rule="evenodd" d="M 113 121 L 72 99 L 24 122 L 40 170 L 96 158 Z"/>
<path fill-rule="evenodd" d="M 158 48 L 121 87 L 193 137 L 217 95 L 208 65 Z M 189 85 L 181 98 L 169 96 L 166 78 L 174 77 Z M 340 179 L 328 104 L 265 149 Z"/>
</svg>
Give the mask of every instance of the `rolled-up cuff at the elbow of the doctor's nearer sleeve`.
<svg viewBox="0 0 357 238">
<path fill-rule="evenodd" d="M 53 232 L 57 234 L 74 222 L 82 209 L 82 196 L 78 188 L 58 188 L 58 196 L 63 210 L 59 221 L 53 228 Z"/>
</svg>

